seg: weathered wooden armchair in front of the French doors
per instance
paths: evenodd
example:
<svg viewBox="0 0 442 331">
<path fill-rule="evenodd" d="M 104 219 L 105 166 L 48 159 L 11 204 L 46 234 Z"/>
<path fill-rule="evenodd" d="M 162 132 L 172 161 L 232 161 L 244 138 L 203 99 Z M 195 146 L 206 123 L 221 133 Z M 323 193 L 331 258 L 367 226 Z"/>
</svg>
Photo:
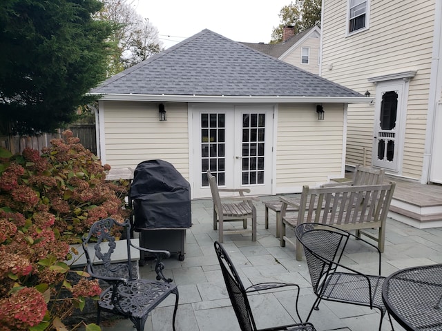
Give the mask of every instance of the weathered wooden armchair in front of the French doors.
<svg viewBox="0 0 442 331">
<path fill-rule="evenodd" d="M 247 219 L 251 219 L 251 240 L 256 241 L 256 208 L 253 205 L 253 200 L 258 200 L 258 197 L 244 196 L 244 192 L 249 193 L 249 189 L 242 188 L 218 188 L 216 178 L 207 170 L 207 179 L 209 179 L 210 190 L 213 198 L 213 230 L 216 230 L 218 223 L 220 229 L 218 233 L 218 240 L 223 241 L 224 232 L 228 233 L 244 233 L 247 230 Z M 238 193 L 231 197 L 220 197 L 220 192 L 230 192 L 231 194 Z M 227 202 L 233 201 L 233 202 Z M 244 230 L 224 230 L 224 221 L 242 221 Z"/>
</svg>

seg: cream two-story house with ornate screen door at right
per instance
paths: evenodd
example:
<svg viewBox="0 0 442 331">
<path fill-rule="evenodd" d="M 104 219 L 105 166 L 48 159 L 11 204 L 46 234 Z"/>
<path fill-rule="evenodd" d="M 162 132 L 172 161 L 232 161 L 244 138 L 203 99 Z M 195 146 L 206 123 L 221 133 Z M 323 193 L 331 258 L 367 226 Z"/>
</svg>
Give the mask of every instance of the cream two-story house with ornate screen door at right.
<svg viewBox="0 0 442 331">
<path fill-rule="evenodd" d="M 322 9 L 320 75 L 374 98 L 349 105 L 347 168 L 442 183 L 442 2 L 323 0 Z"/>
</svg>

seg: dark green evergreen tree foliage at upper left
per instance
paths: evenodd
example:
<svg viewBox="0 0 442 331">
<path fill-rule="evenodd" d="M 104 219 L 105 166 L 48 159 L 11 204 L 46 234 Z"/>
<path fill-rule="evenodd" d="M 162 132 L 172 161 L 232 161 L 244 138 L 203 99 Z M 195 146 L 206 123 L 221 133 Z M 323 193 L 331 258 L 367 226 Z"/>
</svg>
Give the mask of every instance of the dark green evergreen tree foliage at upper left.
<svg viewBox="0 0 442 331">
<path fill-rule="evenodd" d="M 112 26 L 99 0 L 0 2 L 0 131 L 52 132 L 106 78 Z M 6 124 L 7 123 L 7 124 Z"/>
</svg>

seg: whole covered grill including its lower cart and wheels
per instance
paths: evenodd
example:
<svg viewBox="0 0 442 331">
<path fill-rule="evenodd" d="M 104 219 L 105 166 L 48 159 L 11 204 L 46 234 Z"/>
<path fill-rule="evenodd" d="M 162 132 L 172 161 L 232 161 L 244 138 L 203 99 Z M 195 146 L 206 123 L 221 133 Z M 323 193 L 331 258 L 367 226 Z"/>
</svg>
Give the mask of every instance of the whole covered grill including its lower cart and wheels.
<svg viewBox="0 0 442 331">
<path fill-rule="evenodd" d="M 189 182 L 169 162 L 143 161 L 135 168 L 129 196 L 141 247 L 169 250 L 184 261 L 186 229 L 192 225 Z M 147 257 L 142 254 L 140 263 Z"/>
</svg>

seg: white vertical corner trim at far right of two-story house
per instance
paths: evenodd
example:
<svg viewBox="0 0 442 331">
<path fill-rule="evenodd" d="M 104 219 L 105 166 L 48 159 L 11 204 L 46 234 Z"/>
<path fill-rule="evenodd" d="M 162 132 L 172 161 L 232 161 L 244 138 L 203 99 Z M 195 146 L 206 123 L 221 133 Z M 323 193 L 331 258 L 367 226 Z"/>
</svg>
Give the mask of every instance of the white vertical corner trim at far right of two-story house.
<svg viewBox="0 0 442 331">
<path fill-rule="evenodd" d="M 442 1 L 436 0 L 434 5 L 434 32 L 433 32 L 433 51 L 430 76 L 430 90 L 428 93 L 428 113 L 427 125 L 425 130 L 425 146 L 423 154 L 421 183 L 426 184 L 430 181 L 430 168 L 432 149 L 434 144 L 434 117 L 437 110 L 437 93 L 441 91 L 442 71 L 439 63 L 441 56 L 441 36 L 442 36 Z"/>
</svg>

